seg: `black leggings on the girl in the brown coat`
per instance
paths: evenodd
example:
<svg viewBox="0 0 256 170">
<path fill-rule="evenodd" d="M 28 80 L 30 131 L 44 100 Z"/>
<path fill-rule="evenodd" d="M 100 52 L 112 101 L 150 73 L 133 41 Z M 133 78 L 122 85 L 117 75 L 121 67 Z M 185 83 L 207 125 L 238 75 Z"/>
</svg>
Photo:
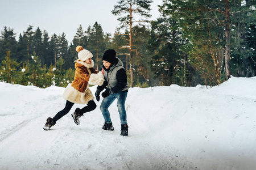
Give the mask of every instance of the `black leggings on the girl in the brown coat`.
<svg viewBox="0 0 256 170">
<path fill-rule="evenodd" d="M 68 114 L 68 112 L 71 110 L 71 108 L 73 107 L 74 103 L 70 102 L 67 100 L 67 103 L 65 105 L 65 108 L 58 112 L 55 117 L 52 118 L 53 121 L 57 121 L 59 120 L 61 117 L 65 116 L 66 114 Z M 88 104 L 86 105 L 86 107 L 82 108 L 80 111 L 80 113 L 86 113 L 86 112 L 90 112 L 93 111 L 94 109 L 96 109 L 96 103 L 93 100 L 90 100 L 88 102 Z"/>
</svg>

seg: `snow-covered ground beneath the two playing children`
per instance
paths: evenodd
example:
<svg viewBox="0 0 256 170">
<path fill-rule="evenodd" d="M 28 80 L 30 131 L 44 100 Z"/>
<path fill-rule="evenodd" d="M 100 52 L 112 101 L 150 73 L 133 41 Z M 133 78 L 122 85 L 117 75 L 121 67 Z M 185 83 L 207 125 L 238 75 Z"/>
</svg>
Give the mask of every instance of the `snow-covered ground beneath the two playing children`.
<svg viewBox="0 0 256 170">
<path fill-rule="evenodd" d="M 90 88 L 93 93 L 96 86 Z M 205 86 L 130 88 L 129 136 L 102 130 L 96 110 L 71 113 L 43 130 L 64 108 L 64 88 L 0 82 L 0 169 L 255 169 L 256 77 Z"/>
</svg>

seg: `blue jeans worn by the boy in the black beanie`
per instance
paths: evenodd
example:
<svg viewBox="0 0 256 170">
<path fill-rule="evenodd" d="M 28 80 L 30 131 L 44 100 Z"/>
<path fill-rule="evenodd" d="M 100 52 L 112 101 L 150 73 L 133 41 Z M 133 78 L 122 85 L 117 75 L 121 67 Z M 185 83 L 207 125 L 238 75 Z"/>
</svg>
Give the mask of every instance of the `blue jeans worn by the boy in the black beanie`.
<svg viewBox="0 0 256 170">
<path fill-rule="evenodd" d="M 108 97 L 105 97 L 102 100 L 100 109 L 101 109 L 101 113 L 105 119 L 105 122 L 107 122 L 108 124 L 110 124 L 112 122 L 108 108 L 113 103 L 113 101 L 115 99 L 117 99 L 117 108 L 118 108 L 118 112 L 119 112 L 121 125 L 125 125 L 125 124 L 127 125 L 126 111 L 125 111 L 126 97 L 127 97 L 127 91 L 121 91 L 121 92 L 118 92 L 117 94 L 110 94 Z"/>
</svg>

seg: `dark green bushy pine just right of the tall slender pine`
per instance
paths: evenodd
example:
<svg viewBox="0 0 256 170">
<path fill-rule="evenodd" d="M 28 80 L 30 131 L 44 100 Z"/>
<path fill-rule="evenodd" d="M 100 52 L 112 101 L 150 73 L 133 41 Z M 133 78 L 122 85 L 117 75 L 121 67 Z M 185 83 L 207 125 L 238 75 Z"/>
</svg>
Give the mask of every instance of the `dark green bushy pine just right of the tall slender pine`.
<svg viewBox="0 0 256 170">
<path fill-rule="evenodd" d="M 151 22 L 151 37 L 147 48 L 152 56 L 151 69 L 160 80 L 157 85 L 187 85 L 185 52 L 181 50 L 187 41 L 177 25 L 175 19 L 164 13 Z"/>
</svg>

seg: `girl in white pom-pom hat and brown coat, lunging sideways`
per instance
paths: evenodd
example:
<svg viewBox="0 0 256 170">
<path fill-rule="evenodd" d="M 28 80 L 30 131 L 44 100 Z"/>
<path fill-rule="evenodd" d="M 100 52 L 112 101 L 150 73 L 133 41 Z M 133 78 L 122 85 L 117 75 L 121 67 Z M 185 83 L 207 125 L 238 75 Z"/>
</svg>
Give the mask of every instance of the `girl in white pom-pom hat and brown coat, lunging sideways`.
<svg viewBox="0 0 256 170">
<path fill-rule="evenodd" d="M 93 101 L 94 97 L 89 89 L 89 84 L 101 86 L 104 82 L 104 76 L 94 69 L 92 53 L 82 48 L 82 46 L 77 46 L 76 50 L 79 59 L 75 61 L 75 78 L 72 84 L 68 84 L 63 94 L 64 99 L 67 100 L 65 108 L 58 112 L 55 117 L 47 118 L 46 125 L 44 125 L 43 128 L 44 130 L 49 130 L 55 125 L 56 121 L 67 114 L 75 103 L 86 104 L 84 108 L 76 108 L 75 112 L 71 114 L 77 125 L 80 125 L 79 118 L 83 116 L 84 113 L 93 111 L 96 108 L 96 103 Z"/>
</svg>

